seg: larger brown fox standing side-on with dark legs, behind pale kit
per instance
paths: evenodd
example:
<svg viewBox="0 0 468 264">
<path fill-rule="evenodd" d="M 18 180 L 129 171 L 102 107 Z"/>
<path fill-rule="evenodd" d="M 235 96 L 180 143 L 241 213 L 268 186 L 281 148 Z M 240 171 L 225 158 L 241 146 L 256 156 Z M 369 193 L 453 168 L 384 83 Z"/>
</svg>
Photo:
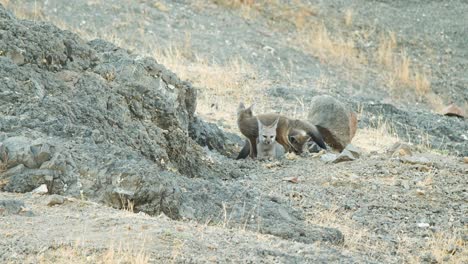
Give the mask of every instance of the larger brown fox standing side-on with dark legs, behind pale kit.
<svg viewBox="0 0 468 264">
<path fill-rule="evenodd" d="M 239 108 L 237 110 L 237 125 L 241 133 L 247 137 L 249 140 L 249 154 L 250 157 L 255 158 L 257 157 L 257 138 L 259 136 L 259 124 L 260 121 L 264 125 L 271 126 L 276 120 L 276 141 L 281 144 L 286 152 L 294 151 L 296 153 L 302 152 L 302 146 L 306 141 L 301 144 L 305 137 L 301 136 L 300 131 L 303 131 L 309 138 L 312 138 L 321 148 L 326 148 L 325 143 L 323 142 L 322 135 L 317 130 L 314 125 L 311 125 L 307 122 L 303 122 L 300 120 L 292 120 L 285 116 L 281 116 L 279 114 L 262 114 L 258 116 L 254 116 L 252 112 L 251 105 L 249 108 L 245 108 L 243 103 L 239 104 Z M 293 137 L 295 139 L 296 144 L 292 144 L 289 140 L 289 134 L 293 132 Z M 308 140 L 308 138 L 307 138 Z M 246 155 L 246 146 L 241 150 L 237 159 L 245 158 Z"/>
</svg>

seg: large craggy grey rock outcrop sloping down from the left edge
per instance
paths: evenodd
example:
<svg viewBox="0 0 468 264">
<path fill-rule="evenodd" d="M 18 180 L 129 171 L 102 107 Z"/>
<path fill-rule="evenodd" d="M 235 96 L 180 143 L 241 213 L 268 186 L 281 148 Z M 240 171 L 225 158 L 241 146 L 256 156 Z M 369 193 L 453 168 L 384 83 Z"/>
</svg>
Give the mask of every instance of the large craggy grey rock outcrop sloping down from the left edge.
<svg viewBox="0 0 468 264">
<path fill-rule="evenodd" d="M 224 182 L 242 175 L 219 154 L 235 138 L 198 119 L 196 90 L 155 60 L 17 20 L 1 6 L 0 22 L 1 191 L 46 184 L 172 219 L 228 218 L 305 243 L 343 241 L 255 188 Z"/>
</svg>

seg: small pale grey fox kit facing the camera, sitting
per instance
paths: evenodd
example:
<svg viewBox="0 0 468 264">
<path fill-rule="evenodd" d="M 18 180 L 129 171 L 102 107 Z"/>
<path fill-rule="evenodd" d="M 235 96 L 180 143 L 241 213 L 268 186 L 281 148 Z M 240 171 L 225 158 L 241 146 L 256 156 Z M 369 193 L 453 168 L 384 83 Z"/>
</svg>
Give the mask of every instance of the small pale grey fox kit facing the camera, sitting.
<svg viewBox="0 0 468 264">
<path fill-rule="evenodd" d="M 258 121 L 258 138 L 257 138 L 257 158 L 259 159 L 273 159 L 279 158 L 283 147 L 276 142 L 276 127 L 278 125 L 279 117 L 269 126 L 262 124 Z M 280 148 L 280 149 L 278 149 Z M 283 151 L 284 152 L 284 151 Z M 284 154 L 284 153 L 283 153 Z"/>
</svg>

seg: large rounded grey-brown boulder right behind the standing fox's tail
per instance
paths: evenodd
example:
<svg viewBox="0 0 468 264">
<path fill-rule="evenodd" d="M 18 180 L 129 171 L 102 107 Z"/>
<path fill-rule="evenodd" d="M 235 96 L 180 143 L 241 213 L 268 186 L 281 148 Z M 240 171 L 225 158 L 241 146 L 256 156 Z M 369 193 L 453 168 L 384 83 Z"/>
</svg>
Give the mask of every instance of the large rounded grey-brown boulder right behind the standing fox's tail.
<svg viewBox="0 0 468 264">
<path fill-rule="evenodd" d="M 329 95 L 314 96 L 310 104 L 307 119 L 317 126 L 328 145 L 342 151 L 356 133 L 356 114 Z"/>
</svg>

